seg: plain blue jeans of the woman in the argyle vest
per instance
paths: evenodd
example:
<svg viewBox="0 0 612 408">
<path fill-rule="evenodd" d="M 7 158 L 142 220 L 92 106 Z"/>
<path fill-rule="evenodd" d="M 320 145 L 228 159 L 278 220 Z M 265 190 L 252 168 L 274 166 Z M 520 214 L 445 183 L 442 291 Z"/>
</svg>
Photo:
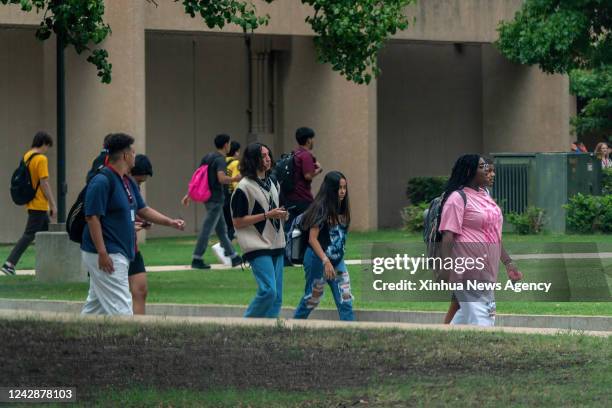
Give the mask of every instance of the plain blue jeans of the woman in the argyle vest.
<svg viewBox="0 0 612 408">
<path fill-rule="evenodd" d="M 249 262 L 257 282 L 257 295 L 244 317 L 278 317 L 283 304 L 283 255 L 262 255 Z"/>
</svg>

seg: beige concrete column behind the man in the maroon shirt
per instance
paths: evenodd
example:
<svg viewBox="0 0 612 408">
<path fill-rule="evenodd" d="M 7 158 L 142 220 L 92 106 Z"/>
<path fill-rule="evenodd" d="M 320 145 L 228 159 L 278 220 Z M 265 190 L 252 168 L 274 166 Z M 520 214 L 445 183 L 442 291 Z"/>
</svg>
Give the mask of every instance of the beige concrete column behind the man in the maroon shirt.
<svg viewBox="0 0 612 408">
<path fill-rule="evenodd" d="M 323 175 L 339 170 L 348 179 L 353 228 L 376 228 L 376 84 L 357 86 L 318 64 L 309 37 L 292 38 L 284 63 L 284 150 L 296 146 L 296 128 L 312 127 Z M 323 175 L 313 182 L 315 194 Z"/>
</svg>

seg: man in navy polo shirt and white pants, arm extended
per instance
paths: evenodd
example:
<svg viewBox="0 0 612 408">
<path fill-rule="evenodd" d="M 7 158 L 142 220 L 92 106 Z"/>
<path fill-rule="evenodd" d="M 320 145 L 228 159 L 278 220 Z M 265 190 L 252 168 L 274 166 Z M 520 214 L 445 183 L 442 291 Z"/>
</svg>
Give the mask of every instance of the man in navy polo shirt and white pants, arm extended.
<svg viewBox="0 0 612 408">
<path fill-rule="evenodd" d="M 89 292 L 82 314 L 132 315 L 128 269 L 135 257 L 136 216 L 151 223 L 183 230 L 185 222 L 147 207 L 136 182 L 129 177 L 136 152 L 134 138 L 124 133 L 108 137 L 108 166 L 87 185 L 81 255 L 89 272 Z"/>
</svg>

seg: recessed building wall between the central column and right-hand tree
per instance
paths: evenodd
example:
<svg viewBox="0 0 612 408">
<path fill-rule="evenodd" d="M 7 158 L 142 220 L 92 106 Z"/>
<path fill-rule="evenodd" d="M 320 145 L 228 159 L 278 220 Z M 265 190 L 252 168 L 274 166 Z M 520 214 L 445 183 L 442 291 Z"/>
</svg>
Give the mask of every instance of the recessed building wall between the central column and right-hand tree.
<svg viewBox="0 0 612 408">
<path fill-rule="evenodd" d="M 401 225 L 406 183 L 448 175 L 461 154 L 566 151 L 569 80 L 491 44 L 392 42 L 379 58 L 379 227 Z"/>
</svg>

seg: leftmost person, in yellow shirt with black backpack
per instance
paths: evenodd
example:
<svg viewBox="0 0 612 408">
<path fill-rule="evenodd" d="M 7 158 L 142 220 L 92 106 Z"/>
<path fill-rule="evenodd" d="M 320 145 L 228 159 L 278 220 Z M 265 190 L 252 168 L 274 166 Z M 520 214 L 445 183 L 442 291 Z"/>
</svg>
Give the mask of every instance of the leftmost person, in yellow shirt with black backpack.
<svg viewBox="0 0 612 408">
<path fill-rule="evenodd" d="M 22 237 L 9 254 L 6 262 L 2 265 L 2 272 L 7 275 L 15 275 L 15 266 L 19 262 L 21 255 L 34 241 L 34 236 L 39 231 L 49 230 L 49 215 L 55 217 L 57 206 L 49 184 L 49 163 L 45 154 L 53 146 L 53 139 L 46 132 L 38 132 L 34 135 L 32 149 L 24 156 L 25 162 L 34 154 L 28 164 L 28 170 L 32 178 L 32 186 L 36 186 L 34 199 L 26 204 L 28 210 L 28 222 Z"/>
</svg>

